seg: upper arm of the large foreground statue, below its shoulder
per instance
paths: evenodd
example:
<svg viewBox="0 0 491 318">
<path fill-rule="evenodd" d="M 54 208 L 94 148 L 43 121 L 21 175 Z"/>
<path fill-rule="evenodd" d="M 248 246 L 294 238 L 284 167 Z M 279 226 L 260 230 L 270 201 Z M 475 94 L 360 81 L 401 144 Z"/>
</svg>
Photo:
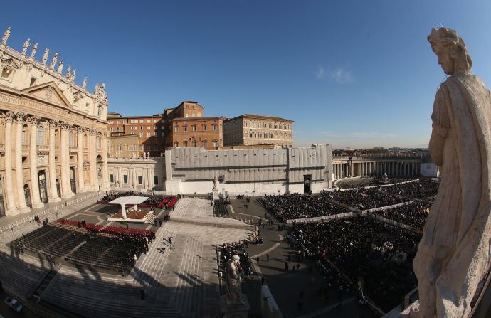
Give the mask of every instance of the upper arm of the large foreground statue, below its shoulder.
<svg viewBox="0 0 491 318">
<path fill-rule="evenodd" d="M 448 117 L 448 104 L 450 103 L 450 94 L 446 85 L 442 84 L 435 96 L 433 104 L 433 114 L 431 115 L 432 130 L 429 143 L 431 157 L 437 166 L 443 164 L 443 147 L 445 139 L 448 137 L 450 120 Z"/>
</svg>

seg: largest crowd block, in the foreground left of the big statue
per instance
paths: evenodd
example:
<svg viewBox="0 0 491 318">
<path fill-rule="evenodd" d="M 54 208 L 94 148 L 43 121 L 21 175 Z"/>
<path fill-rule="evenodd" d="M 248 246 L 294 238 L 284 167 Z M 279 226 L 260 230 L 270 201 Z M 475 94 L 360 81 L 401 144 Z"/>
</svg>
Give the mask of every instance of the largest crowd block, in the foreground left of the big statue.
<svg viewBox="0 0 491 318">
<path fill-rule="evenodd" d="M 357 216 L 295 224 L 290 237 L 300 258 L 317 260 L 323 289 L 349 294 L 361 277 L 364 294 L 389 311 L 417 285 L 412 268 L 417 233 Z"/>
</svg>

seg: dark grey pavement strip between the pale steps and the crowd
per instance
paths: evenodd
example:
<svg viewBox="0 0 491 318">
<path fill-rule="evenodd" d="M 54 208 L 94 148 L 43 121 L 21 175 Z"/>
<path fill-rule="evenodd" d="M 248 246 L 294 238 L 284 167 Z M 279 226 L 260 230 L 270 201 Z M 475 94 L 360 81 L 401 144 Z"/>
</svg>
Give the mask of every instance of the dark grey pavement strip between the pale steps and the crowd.
<svg viewBox="0 0 491 318">
<path fill-rule="evenodd" d="M 251 198 L 248 208 L 244 208 L 245 200 L 232 201 L 232 216 L 242 216 L 253 218 L 256 222 L 259 218 L 265 219 L 265 209 L 255 199 Z M 295 252 L 290 244 L 283 243 L 283 235 L 286 230 L 278 230 L 278 222 L 273 226 L 259 226 L 260 236 L 263 238 L 263 245 L 248 244 L 248 255 L 254 260 L 259 256 L 258 272 L 265 278 L 265 283 L 270 288 L 275 301 L 278 304 L 283 316 L 290 317 L 377 317 L 366 307 L 360 307 L 359 298 L 356 294 L 329 295 L 322 299 L 318 292 L 322 277 L 320 272 L 315 269 L 314 261 L 297 262 Z M 269 255 L 269 261 L 267 256 Z M 285 272 L 287 256 L 290 255 L 290 270 Z M 299 270 L 292 272 L 293 265 L 300 265 Z M 312 267 L 312 274 L 309 274 L 309 267 Z M 260 280 L 247 280 L 243 286 L 243 291 L 248 295 L 251 304 L 250 314 L 260 317 Z M 302 309 L 298 306 L 300 302 L 300 291 L 304 292 Z M 334 309 L 335 304 L 342 303 L 339 309 Z M 358 316 L 357 316 L 358 315 Z"/>
</svg>

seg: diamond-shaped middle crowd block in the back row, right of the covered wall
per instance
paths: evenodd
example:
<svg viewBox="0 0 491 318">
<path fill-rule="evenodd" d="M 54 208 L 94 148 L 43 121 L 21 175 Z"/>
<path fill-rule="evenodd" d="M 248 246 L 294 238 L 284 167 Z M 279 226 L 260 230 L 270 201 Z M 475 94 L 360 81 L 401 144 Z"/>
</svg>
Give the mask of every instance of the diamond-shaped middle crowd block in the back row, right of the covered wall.
<svg viewBox="0 0 491 318">
<path fill-rule="evenodd" d="M 346 191 L 330 191 L 324 192 L 329 198 L 339 203 L 344 203 L 347 206 L 366 210 L 369 208 L 379 208 L 381 206 L 392 206 L 397 203 L 408 201 L 404 198 L 398 198 L 381 192 L 379 188 L 357 188 Z"/>
</svg>

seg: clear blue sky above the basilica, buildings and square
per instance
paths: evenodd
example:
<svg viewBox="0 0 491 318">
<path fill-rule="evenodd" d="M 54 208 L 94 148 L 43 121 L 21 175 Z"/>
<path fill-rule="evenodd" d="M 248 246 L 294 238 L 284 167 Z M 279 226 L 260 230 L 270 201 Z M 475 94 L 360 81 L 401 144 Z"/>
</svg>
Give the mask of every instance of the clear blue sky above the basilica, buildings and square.
<svg viewBox="0 0 491 318">
<path fill-rule="evenodd" d="M 445 75 L 426 41 L 455 28 L 491 85 L 491 1 L 15 1 L 8 45 L 60 51 L 110 111 L 183 100 L 205 115 L 294 120 L 297 146 L 426 147 Z M 51 56 L 50 56 L 51 60 Z"/>
</svg>

